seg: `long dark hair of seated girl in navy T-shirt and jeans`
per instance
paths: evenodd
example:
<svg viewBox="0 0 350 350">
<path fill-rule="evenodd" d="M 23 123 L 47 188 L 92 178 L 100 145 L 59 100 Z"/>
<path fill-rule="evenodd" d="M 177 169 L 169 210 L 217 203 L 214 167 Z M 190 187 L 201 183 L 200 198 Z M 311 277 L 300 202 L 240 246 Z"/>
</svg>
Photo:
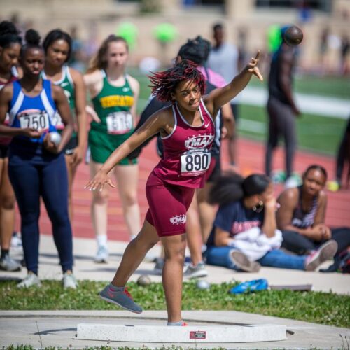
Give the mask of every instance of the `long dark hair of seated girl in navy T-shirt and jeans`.
<svg viewBox="0 0 350 350">
<path fill-rule="evenodd" d="M 269 178 L 263 174 L 251 174 L 244 179 L 237 173 L 226 172 L 214 182 L 209 192 L 209 203 L 223 205 L 244 197 L 260 195 L 269 183 Z"/>
</svg>

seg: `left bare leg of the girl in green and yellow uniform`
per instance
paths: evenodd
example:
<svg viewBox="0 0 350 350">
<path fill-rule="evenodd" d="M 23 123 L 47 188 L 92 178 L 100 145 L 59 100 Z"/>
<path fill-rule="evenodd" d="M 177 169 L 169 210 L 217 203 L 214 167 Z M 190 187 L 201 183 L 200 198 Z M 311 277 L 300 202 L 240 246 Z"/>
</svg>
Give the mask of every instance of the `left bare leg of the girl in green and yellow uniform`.
<svg viewBox="0 0 350 350">
<path fill-rule="evenodd" d="M 90 161 L 91 178 L 102 167 L 101 163 Z M 91 216 L 94 233 L 96 236 L 107 235 L 107 208 L 109 200 L 109 186 L 104 186 L 102 191 L 92 191 Z"/>
</svg>

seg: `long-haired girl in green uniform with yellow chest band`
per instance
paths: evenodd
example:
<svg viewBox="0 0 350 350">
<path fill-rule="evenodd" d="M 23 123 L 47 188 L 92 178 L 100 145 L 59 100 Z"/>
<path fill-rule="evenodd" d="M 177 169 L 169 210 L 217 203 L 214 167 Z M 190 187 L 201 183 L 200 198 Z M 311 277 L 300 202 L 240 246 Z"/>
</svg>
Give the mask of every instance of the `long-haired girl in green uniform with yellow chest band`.
<svg viewBox="0 0 350 350">
<path fill-rule="evenodd" d="M 111 35 L 102 43 L 84 76 L 94 106 L 89 132 L 90 169 L 93 177 L 109 155 L 130 137 L 134 130 L 139 83 L 125 73 L 128 58 L 126 41 Z M 133 238 L 141 228 L 137 201 L 139 167 L 137 160 L 121 160 L 113 169 L 123 204 L 125 223 Z M 97 236 L 96 262 L 106 262 L 107 205 L 109 190 L 93 193 L 92 221 Z"/>
</svg>

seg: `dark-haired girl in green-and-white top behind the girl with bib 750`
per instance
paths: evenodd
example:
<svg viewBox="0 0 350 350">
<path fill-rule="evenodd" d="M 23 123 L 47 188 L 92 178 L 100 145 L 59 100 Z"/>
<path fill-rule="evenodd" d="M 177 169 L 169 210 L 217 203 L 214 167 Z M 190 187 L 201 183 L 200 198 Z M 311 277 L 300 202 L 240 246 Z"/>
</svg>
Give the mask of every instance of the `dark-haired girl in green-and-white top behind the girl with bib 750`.
<svg viewBox="0 0 350 350">
<path fill-rule="evenodd" d="M 48 33 L 43 41 L 45 50 L 45 68 L 43 78 L 52 80 L 52 83 L 62 87 L 66 95 L 71 113 L 75 118 L 76 128 L 64 148 L 66 167 L 68 171 L 69 190 L 69 216 L 73 218 L 73 205 L 71 191 L 76 169 L 83 160 L 86 146 L 86 88 L 83 75 L 70 68 L 66 62 L 71 55 L 71 36 L 60 29 L 54 29 Z M 58 132 L 62 132 L 64 124 L 56 111 L 52 124 L 56 126 Z"/>
</svg>

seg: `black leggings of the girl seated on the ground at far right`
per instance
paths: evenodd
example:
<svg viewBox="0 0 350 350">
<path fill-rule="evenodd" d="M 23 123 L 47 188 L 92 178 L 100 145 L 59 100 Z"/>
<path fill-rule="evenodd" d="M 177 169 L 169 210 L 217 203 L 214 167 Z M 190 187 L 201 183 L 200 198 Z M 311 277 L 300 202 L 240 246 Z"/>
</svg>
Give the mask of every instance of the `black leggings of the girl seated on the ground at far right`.
<svg viewBox="0 0 350 350">
<path fill-rule="evenodd" d="M 338 255 L 340 252 L 344 251 L 348 246 L 350 246 L 350 228 L 334 228 L 332 231 L 332 239 L 334 239 L 338 244 Z M 305 236 L 300 235 L 300 233 L 295 231 L 282 231 L 283 248 L 288 249 L 288 251 L 293 251 L 297 255 L 304 255 L 314 251 L 321 244 L 325 243 L 322 241 L 313 241 Z"/>
</svg>

